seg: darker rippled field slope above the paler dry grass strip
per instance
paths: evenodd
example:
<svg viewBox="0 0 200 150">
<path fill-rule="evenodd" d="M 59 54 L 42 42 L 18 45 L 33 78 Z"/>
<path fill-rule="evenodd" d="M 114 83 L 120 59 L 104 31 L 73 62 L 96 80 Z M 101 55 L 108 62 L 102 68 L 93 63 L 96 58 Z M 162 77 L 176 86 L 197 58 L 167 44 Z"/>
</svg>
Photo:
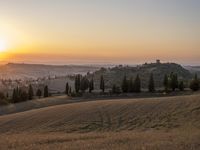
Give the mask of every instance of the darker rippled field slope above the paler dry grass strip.
<svg viewBox="0 0 200 150">
<path fill-rule="evenodd" d="M 200 128 L 200 95 L 64 104 L 0 116 L 0 132 Z"/>
</svg>

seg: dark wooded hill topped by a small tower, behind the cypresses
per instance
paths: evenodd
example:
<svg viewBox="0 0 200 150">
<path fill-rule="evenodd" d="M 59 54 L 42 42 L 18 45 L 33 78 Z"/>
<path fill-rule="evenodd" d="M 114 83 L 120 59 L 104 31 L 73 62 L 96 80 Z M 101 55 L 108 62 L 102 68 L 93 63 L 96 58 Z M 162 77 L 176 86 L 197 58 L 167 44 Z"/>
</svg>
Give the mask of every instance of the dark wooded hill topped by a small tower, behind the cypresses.
<svg viewBox="0 0 200 150">
<path fill-rule="evenodd" d="M 124 75 L 129 79 L 134 79 L 136 75 L 139 74 L 142 81 L 142 87 L 145 88 L 148 85 L 151 73 L 154 75 L 156 87 L 162 87 L 164 75 L 170 74 L 171 72 L 178 74 L 180 80 L 188 81 L 192 78 L 192 74 L 188 70 L 175 63 L 151 63 L 138 65 L 136 67 L 120 65 L 108 69 L 101 68 L 89 76 L 90 78 L 94 77 L 95 85 L 99 87 L 99 79 L 100 76 L 103 75 L 106 87 L 111 88 L 113 84 L 121 85 Z"/>
</svg>

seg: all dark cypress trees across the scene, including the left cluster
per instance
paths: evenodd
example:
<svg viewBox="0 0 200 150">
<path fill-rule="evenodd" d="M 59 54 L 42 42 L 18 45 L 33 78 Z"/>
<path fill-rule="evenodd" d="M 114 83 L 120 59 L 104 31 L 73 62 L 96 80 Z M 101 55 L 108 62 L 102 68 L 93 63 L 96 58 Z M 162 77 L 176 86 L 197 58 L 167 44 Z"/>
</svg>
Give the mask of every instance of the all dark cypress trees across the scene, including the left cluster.
<svg viewBox="0 0 200 150">
<path fill-rule="evenodd" d="M 76 75 L 74 81 L 74 89 L 69 83 L 66 83 L 65 94 L 69 96 L 81 96 L 81 94 L 88 92 L 92 93 L 94 91 L 94 79 L 88 79 L 87 76 Z M 175 73 L 170 73 L 164 76 L 163 79 L 163 87 L 165 92 L 175 91 L 179 89 L 179 91 L 184 91 L 186 85 L 183 80 L 178 79 L 178 75 Z M 191 80 L 189 84 L 189 88 L 193 91 L 198 91 L 200 89 L 200 81 L 198 79 L 197 74 L 195 74 L 194 78 Z M 104 93 L 106 89 L 104 76 L 100 76 L 99 81 L 99 90 L 101 93 Z M 153 73 L 149 76 L 148 81 L 148 91 L 153 93 L 156 92 L 156 86 L 154 81 Z M 121 85 L 113 84 L 111 93 L 120 94 L 120 93 L 140 93 L 142 91 L 141 87 L 141 79 L 140 76 L 137 75 L 134 79 L 127 78 L 124 75 L 123 80 L 121 81 Z M 49 89 L 48 86 L 44 86 L 43 91 L 41 89 L 37 89 L 34 93 L 32 85 L 29 85 L 28 90 L 23 90 L 22 88 L 14 88 L 12 97 L 10 99 L 11 103 L 18 103 L 22 101 L 32 100 L 34 97 L 49 97 Z"/>
</svg>

